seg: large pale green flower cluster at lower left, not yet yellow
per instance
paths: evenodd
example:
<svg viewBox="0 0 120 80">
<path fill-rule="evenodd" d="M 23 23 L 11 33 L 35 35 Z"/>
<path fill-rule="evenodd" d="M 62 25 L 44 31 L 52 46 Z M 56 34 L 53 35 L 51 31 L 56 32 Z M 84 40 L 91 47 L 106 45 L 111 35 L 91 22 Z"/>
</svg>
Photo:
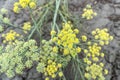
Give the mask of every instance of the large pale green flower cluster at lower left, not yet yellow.
<svg viewBox="0 0 120 80">
<path fill-rule="evenodd" d="M 38 60 L 39 49 L 35 40 L 17 41 L 13 45 L 7 45 L 0 55 L 0 72 L 13 77 L 15 74 L 22 74 L 24 69 L 31 68 L 33 62 Z"/>
</svg>

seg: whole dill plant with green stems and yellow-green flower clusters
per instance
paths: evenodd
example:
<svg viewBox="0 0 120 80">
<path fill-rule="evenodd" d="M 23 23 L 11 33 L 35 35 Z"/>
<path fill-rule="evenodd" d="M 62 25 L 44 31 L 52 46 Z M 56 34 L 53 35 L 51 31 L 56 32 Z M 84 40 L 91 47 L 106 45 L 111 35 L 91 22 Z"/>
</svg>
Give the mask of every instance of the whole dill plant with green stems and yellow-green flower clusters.
<svg viewBox="0 0 120 80">
<path fill-rule="evenodd" d="M 113 40 L 108 30 L 97 28 L 91 32 L 92 39 L 89 39 L 79 26 L 75 26 L 77 22 L 71 19 L 67 0 L 50 0 L 44 5 L 38 5 L 37 2 L 19 0 L 13 4 L 16 14 L 27 9 L 31 18 L 31 21 L 18 27 L 3 16 L 7 10 L 1 9 L 1 27 L 7 25 L 11 29 L 2 33 L 3 44 L 6 45 L 0 46 L 0 73 L 12 78 L 16 75 L 23 76 L 26 69 L 35 67 L 44 80 L 105 80 L 105 75 L 109 72 L 101 60 L 105 56 L 102 47 Z M 91 5 L 86 5 L 81 16 L 80 19 L 91 20 L 97 13 Z M 44 24 L 49 22 L 48 17 L 52 21 L 50 38 L 46 40 L 42 36 L 42 30 Z M 12 28 L 22 30 L 25 36 Z M 4 32 L 4 29 L 1 28 L 0 31 Z M 33 39 L 34 36 L 37 36 L 38 41 Z M 65 71 L 67 69 L 71 71 Z M 66 75 L 67 72 L 69 74 Z"/>
</svg>

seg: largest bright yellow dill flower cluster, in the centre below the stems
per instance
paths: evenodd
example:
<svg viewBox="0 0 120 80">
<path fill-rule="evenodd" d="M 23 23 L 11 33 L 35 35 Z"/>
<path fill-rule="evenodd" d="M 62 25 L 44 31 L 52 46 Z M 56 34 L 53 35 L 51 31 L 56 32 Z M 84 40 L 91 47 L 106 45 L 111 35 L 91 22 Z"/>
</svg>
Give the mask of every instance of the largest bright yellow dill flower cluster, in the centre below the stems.
<svg viewBox="0 0 120 80">
<path fill-rule="evenodd" d="M 72 26 L 71 22 L 63 23 L 63 29 L 52 40 L 63 47 L 62 53 L 64 55 L 77 55 L 81 51 L 80 48 L 74 47 L 74 45 L 79 44 L 79 39 L 76 36 L 79 30 L 72 30 Z M 56 34 L 56 32 L 51 31 L 51 34 Z"/>
</svg>

